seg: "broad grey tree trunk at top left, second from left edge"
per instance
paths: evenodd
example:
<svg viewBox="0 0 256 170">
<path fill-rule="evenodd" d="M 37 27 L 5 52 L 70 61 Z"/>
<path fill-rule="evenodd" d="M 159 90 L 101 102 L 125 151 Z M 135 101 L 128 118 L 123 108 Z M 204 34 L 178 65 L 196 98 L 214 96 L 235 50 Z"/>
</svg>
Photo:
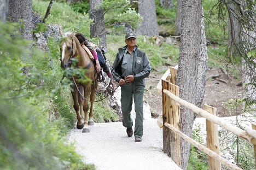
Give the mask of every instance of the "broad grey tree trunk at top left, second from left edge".
<svg viewBox="0 0 256 170">
<path fill-rule="evenodd" d="M 32 39 L 32 0 L 10 0 L 8 20 L 20 24 L 20 32 L 25 39 Z"/>
</svg>

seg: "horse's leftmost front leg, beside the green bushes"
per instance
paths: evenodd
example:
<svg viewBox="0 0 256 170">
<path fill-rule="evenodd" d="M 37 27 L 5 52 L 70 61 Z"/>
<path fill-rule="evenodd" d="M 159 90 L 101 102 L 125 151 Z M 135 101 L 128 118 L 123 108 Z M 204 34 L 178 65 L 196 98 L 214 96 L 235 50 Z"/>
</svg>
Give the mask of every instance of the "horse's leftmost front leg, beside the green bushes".
<svg viewBox="0 0 256 170">
<path fill-rule="evenodd" d="M 78 91 L 75 88 L 73 89 L 74 91 L 71 91 L 71 93 L 74 101 L 73 107 L 74 107 L 75 113 L 77 113 L 77 128 L 82 129 L 84 127 L 84 122 L 83 122 L 82 116 L 79 113 Z"/>
</svg>

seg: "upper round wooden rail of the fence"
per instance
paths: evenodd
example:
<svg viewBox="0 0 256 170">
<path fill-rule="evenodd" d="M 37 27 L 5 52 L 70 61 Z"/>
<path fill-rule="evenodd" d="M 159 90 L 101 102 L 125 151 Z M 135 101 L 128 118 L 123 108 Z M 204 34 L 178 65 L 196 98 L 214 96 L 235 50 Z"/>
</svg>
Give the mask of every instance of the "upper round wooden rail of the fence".
<svg viewBox="0 0 256 170">
<path fill-rule="evenodd" d="M 187 101 L 184 101 L 183 99 L 173 95 L 173 93 L 171 93 L 170 91 L 168 90 L 163 90 L 163 92 L 168 95 L 169 97 L 171 97 L 172 99 L 174 99 L 176 102 L 184 105 L 185 107 L 189 108 L 190 110 L 192 110 L 194 113 L 196 114 L 199 114 L 200 116 L 202 116 L 203 118 L 207 119 L 207 120 L 210 120 L 212 122 L 214 122 L 215 124 L 225 128 L 226 130 L 236 134 L 238 137 L 242 138 L 242 139 L 245 139 L 247 140 L 248 142 L 252 143 L 252 139 L 254 139 L 252 137 L 252 134 L 248 134 L 246 131 L 243 131 L 241 130 L 240 128 L 228 123 L 228 122 L 225 122 L 224 120 L 220 119 L 218 116 L 214 116 L 208 112 L 206 112 L 205 110 L 199 108 L 199 107 L 196 107 L 194 104 L 191 104 Z M 256 132 L 252 132 L 255 136 L 256 135 Z"/>
</svg>

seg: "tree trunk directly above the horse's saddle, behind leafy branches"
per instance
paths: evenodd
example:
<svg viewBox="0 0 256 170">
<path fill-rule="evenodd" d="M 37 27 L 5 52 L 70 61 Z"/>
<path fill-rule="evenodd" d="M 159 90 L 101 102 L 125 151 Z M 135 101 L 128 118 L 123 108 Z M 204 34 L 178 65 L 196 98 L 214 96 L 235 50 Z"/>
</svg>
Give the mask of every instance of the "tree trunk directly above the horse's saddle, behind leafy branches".
<svg viewBox="0 0 256 170">
<path fill-rule="evenodd" d="M 90 34 L 91 38 L 99 37 L 100 46 L 107 47 L 106 43 L 106 32 L 105 32 L 105 22 L 104 22 L 104 11 L 103 8 L 98 8 L 97 6 L 102 3 L 102 0 L 90 0 L 90 18 L 94 21 L 91 24 Z"/>
</svg>

